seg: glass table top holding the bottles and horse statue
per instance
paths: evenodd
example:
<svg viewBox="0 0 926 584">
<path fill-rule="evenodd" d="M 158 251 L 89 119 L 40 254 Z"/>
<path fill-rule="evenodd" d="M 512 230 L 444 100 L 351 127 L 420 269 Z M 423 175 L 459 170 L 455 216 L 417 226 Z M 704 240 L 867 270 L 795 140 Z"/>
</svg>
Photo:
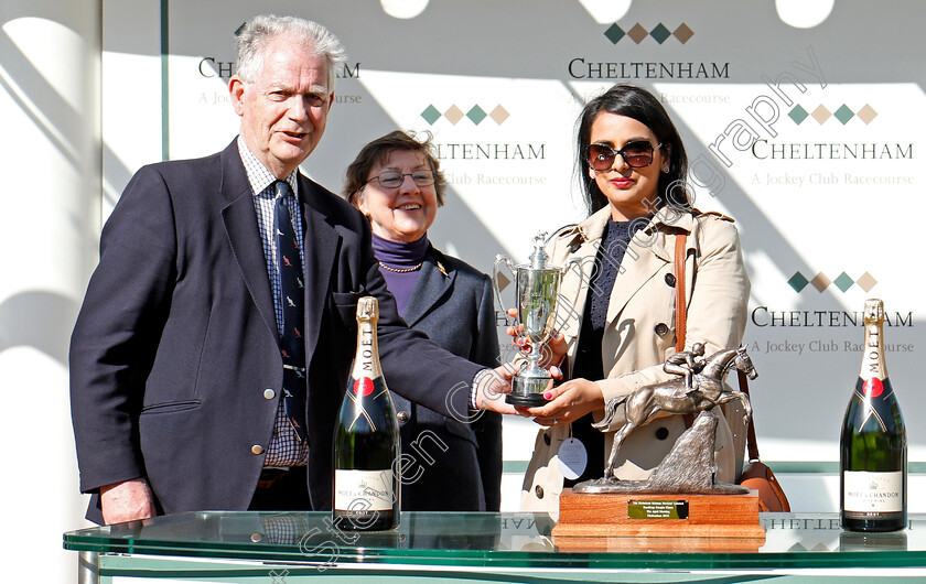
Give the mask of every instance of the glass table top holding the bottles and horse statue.
<svg viewBox="0 0 926 584">
<path fill-rule="evenodd" d="M 317 512 L 197 511 L 69 531 L 68 550 L 305 565 L 767 569 L 926 566 L 926 515 L 894 533 L 843 531 L 837 513 L 762 513 L 765 539 L 560 538 L 535 513 L 406 512 L 355 533 Z"/>
</svg>

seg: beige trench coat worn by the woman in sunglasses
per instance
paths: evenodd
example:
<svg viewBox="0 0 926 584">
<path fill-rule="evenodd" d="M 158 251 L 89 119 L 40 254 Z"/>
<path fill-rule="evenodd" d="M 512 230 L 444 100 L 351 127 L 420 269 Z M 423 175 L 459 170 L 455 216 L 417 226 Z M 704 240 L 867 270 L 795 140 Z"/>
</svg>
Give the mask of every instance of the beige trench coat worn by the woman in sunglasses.
<svg viewBox="0 0 926 584">
<path fill-rule="evenodd" d="M 579 344 L 589 274 L 609 217 L 610 207 L 605 207 L 553 239 L 550 252 L 553 264 L 566 266 L 569 259 L 580 258 L 583 266 L 583 275 L 570 270 L 561 284 L 562 298 L 571 301 L 578 294 L 577 303 L 573 306 L 562 302 L 557 312 L 557 326 L 568 345 L 569 370 L 574 365 Z M 688 234 L 686 348 L 704 343 L 704 354 L 711 355 L 739 346 L 742 340 L 750 281 L 733 220 L 712 213 L 692 215 L 664 208 L 634 236 L 611 292 L 602 342 L 607 377 L 597 380 L 605 400 L 674 377 L 663 370 L 663 364 L 675 353 L 674 232 L 679 229 Z M 605 434 L 605 457 L 611 452 L 613 432 L 624 423 L 623 408 L 620 407 Z M 718 425 L 717 479 L 721 482 L 735 482 L 742 472 L 746 432 L 741 412 L 740 405 L 724 405 L 728 423 L 721 419 Z M 601 415 L 597 412 L 596 419 Z M 648 477 L 683 431 L 680 415 L 666 415 L 634 430 L 621 447 L 617 476 L 632 480 Z M 558 517 L 563 476 L 557 452 L 568 437 L 568 424 L 538 433 L 524 479 L 523 510 L 547 511 Z"/>
</svg>

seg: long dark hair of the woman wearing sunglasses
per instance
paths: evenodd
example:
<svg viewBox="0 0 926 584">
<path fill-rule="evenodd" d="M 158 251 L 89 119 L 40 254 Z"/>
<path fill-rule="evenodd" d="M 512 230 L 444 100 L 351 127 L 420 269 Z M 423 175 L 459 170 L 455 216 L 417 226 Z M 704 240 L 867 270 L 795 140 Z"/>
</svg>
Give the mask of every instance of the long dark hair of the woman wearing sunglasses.
<svg viewBox="0 0 926 584">
<path fill-rule="evenodd" d="M 615 85 L 589 101 L 579 117 L 575 144 L 577 169 L 582 180 L 582 192 L 589 214 L 607 205 L 607 197 L 597 187 L 594 179 L 589 175 L 589 161 L 585 159 L 592 122 L 602 111 L 633 118 L 656 134 L 656 139 L 663 144 L 663 152 L 669 152 L 669 172 L 659 174 L 656 187 L 658 199 L 654 202 L 655 207 L 661 208 L 668 204 L 689 208 L 690 202 L 685 183 L 688 175 L 688 155 L 685 153 L 685 145 L 672 120 L 669 119 L 669 115 L 659 100 L 646 89 L 633 85 Z M 671 148 L 667 148 L 668 144 L 671 144 Z"/>
</svg>

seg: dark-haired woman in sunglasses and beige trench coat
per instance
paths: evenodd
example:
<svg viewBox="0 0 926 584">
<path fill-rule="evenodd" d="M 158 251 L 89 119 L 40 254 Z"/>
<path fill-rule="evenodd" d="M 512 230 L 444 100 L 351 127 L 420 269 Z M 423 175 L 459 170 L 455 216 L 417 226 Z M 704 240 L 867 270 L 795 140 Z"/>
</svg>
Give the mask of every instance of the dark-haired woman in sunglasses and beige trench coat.
<svg viewBox="0 0 926 584">
<path fill-rule="evenodd" d="M 542 426 L 521 494 L 524 510 L 558 512 L 564 486 L 603 476 L 618 412 L 609 432 L 592 429 L 606 400 L 670 376 L 675 353 L 674 255 L 677 234 L 687 236 L 686 349 L 704 344 L 707 355 L 737 346 L 746 325 L 750 283 L 732 219 L 693 209 L 685 179 L 688 159 L 678 131 L 645 89 L 617 85 L 582 110 L 578 167 L 590 217 L 557 234 L 550 256 L 557 266 L 583 260 L 583 275 L 563 277 L 558 309 L 564 379 L 525 412 Z M 509 331 L 512 334 L 513 331 Z M 718 425 L 717 479 L 732 483 L 742 469 L 742 418 L 725 412 Z M 736 434 L 735 446 L 733 433 Z M 685 431 L 680 415 L 658 418 L 632 432 L 621 447 L 615 475 L 645 479 Z"/>
</svg>

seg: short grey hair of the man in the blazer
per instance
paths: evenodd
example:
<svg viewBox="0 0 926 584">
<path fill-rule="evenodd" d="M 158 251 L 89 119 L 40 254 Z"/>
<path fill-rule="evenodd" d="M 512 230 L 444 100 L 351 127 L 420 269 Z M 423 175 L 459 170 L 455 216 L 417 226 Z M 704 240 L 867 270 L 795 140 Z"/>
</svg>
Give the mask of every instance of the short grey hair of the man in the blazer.
<svg viewBox="0 0 926 584">
<path fill-rule="evenodd" d="M 347 56 L 341 41 L 330 30 L 297 17 L 262 14 L 247 21 L 238 33 L 238 77 L 254 83 L 263 67 L 265 50 L 277 35 L 293 36 L 298 42 L 312 45 L 315 53 L 327 61 L 327 90 L 334 91 L 336 68 Z"/>
</svg>

